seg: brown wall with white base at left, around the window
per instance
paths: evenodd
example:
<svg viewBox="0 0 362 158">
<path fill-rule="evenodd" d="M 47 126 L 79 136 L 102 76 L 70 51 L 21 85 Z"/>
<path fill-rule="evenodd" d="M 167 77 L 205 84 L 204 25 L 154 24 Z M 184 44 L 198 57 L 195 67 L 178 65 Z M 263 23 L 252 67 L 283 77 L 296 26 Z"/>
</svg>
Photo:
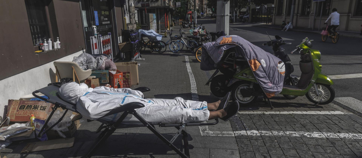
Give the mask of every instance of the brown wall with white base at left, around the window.
<svg viewBox="0 0 362 158">
<path fill-rule="evenodd" d="M 71 61 L 85 49 L 79 0 L 51 0 L 47 6 L 52 41 L 59 37 L 62 48 L 35 54 L 25 0 L 0 1 L 0 114 L 8 99 L 55 82 L 52 61 Z"/>
</svg>

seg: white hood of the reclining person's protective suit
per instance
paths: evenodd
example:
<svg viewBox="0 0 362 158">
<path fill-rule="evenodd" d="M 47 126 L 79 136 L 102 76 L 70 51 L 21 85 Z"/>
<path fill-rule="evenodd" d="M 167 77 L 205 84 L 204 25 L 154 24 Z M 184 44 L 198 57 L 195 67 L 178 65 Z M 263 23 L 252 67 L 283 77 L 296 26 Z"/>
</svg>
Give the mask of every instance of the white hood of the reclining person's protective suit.
<svg viewBox="0 0 362 158">
<path fill-rule="evenodd" d="M 88 85 L 85 83 L 78 84 L 76 82 L 63 84 L 59 89 L 59 96 L 63 100 L 67 100 L 76 104 L 79 97 L 88 92 Z"/>
</svg>

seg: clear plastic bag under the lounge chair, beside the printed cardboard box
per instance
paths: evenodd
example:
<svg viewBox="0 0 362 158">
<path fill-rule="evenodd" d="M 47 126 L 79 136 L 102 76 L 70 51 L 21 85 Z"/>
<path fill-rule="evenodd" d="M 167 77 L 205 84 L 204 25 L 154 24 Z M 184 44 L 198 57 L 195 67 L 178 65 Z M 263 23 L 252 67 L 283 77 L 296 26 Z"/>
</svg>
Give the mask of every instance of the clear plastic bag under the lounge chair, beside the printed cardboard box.
<svg viewBox="0 0 362 158">
<path fill-rule="evenodd" d="M 50 118 L 48 122 L 48 126 L 52 126 L 58 120 L 62 117 L 64 114 L 64 111 L 56 110 L 53 114 L 53 116 Z M 72 124 L 72 111 L 68 111 L 67 114 L 64 116 L 62 121 L 60 121 L 57 125 L 55 125 L 51 130 L 57 131 L 59 133 L 59 136 L 66 138 L 66 136 L 62 133 L 62 131 L 67 131 L 68 127 Z"/>
</svg>

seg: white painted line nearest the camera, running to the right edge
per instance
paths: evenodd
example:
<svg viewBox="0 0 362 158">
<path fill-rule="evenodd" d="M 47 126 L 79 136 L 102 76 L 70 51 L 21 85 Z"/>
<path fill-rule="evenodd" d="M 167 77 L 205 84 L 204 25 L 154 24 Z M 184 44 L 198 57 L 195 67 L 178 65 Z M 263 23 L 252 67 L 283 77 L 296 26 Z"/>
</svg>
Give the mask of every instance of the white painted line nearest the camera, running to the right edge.
<svg viewBox="0 0 362 158">
<path fill-rule="evenodd" d="M 296 131 L 235 131 L 235 132 L 211 132 L 205 131 L 204 136 L 291 136 L 291 137 L 317 137 L 317 138 L 345 138 L 345 139 L 362 139 L 361 133 L 328 133 L 328 132 L 296 132 Z"/>
</svg>

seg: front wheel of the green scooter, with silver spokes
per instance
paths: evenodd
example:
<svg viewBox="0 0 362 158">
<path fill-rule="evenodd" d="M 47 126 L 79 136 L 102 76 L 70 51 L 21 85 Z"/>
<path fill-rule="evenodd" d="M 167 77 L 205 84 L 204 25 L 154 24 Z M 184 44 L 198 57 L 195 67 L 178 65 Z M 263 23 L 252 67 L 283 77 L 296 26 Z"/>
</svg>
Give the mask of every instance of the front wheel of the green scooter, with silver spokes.
<svg viewBox="0 0 362 158">
<path fill-rule="evenodd" d="M 312 86 L 306 94 L 306 97 L 309 101 L 313 102 L 314 104 L 318 103 L 318 105 L 326 105 L 334 100 L 336 93 L 334 92 L 334 89 L 331 85 L 321 83 L 316 83 L 316 85 L 320 95 L 317 96 L 316 89 L 314 86 Z"/>
</svg>

